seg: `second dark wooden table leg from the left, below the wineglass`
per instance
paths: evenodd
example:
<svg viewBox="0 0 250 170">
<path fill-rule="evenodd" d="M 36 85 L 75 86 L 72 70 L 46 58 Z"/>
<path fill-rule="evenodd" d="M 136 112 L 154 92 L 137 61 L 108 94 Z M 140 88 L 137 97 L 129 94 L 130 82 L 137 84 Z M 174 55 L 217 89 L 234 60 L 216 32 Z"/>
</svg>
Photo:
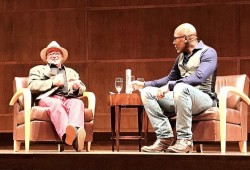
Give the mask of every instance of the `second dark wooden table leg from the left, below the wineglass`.
<svg viewBox="0 0 250 170">
<path fill-rule="evenodd" d="M 116 131 L 116 150 L 120 146 L 120 124 L 121 124 L 121 106 L 115 106 L 115 131 Z"/>
</svg>

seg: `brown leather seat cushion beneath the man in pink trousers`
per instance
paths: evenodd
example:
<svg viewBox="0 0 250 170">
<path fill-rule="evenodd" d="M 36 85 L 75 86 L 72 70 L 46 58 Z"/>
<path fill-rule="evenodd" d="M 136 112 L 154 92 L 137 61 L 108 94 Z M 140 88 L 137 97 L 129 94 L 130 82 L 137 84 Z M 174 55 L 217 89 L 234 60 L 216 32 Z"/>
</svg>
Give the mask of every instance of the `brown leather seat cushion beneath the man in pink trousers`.
<svg viewBox="0 0 250 170">
<path fill-rule="evenodd" d="M 93 118 L 93 112 L 91 109 L 84 109 L 84 122 L 90 122 Z M 47 121 L 50 122 L 50 117 L 47 114 L 46 107 L 41 106 L 33 106 L 31 108 L 31 121 L 40 120 L 40 121 Z M 17 124 L 24 123 L 24 110 L 20 111 L 17 116 Z"/>
</svg>

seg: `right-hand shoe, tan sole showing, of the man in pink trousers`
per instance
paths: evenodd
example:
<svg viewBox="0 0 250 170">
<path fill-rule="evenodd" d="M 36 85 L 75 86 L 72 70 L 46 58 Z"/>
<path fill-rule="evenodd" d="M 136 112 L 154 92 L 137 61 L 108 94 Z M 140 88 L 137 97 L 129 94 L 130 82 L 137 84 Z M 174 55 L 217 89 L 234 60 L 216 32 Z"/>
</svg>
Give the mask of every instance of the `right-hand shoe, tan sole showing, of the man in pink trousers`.
<svg viewBox="0 0 250 170">
<path fill-rule="evenodd" d="M 83 150 L 85 138 L 86 138 L 86 131 L 85 131 L 85 129 L 83 127 L 80 127 L 77 130 L 77 137 L 73 142 L 73 148 L 77 152 L 81 152 Z"/>
</svg>

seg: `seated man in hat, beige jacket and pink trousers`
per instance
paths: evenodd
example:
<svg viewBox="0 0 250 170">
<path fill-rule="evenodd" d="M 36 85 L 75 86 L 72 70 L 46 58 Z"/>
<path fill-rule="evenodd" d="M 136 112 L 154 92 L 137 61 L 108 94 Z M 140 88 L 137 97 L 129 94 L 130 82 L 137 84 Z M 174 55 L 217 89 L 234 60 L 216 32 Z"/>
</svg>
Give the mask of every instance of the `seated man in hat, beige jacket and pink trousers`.
<svg viewBox="0 0 250 170">
<path fill-rule="evenodd" d="M 57 134 L 76 151 L 83 150 L 84 104 L 78 96 L 86 90 L 78 73 L 64 66 L 68 51 L 52 41 L 40 53 L 46 65 L 30 69 L 29 88 L 39 106 L 47 107 L 47 113 Z"/>
</svg>

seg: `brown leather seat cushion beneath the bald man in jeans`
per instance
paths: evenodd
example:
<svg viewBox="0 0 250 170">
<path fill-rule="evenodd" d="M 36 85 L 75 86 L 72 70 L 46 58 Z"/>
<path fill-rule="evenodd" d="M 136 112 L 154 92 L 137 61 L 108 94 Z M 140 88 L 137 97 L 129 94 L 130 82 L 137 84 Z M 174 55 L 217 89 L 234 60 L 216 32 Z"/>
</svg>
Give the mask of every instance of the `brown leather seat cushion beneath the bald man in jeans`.
<svg viewBox="0 0 250 170">
<path fill-rule="evenodd" d="M 240 124 L 240 112 L 227 108 L 227 123 Z M 220 120 L 219 108 L 212 107 L 205 112 L 194 115 L 193 121 Z"/>
</svg>

